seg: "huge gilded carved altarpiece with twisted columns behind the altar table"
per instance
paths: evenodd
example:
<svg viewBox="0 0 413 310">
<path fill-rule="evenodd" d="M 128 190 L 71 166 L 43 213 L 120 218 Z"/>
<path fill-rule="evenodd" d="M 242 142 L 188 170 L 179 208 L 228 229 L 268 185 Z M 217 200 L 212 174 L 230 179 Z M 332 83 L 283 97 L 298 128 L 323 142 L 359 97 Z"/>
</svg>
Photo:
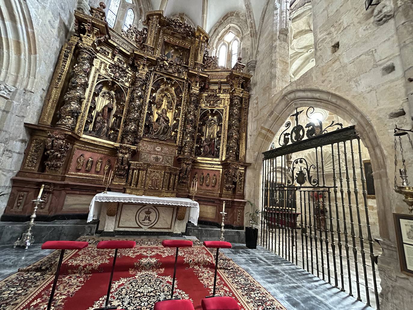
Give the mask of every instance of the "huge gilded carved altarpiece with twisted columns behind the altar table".
<svg viewBox="0 0 413 310">
<path fill-rule="evenodd" d="M 102 5 L 103 7 L 103 5 Z M 217 69 L 208 34 L 162 11 L 121 34 L 102 7 L 75 11 L 3 220 L 24 220 L 45 184 L 42 220 L 81 218 L 103 191 L 192 198 L 201 221 L 244 222 L 245 143 L 251 75 Z"/>
</svg>

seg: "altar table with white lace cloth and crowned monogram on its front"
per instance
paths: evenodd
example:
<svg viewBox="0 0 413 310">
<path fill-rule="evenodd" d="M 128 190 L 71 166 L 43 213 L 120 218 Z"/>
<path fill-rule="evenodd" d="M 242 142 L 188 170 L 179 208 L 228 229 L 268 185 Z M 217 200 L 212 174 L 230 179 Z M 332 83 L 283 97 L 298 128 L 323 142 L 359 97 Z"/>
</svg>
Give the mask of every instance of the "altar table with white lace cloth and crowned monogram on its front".
<svg viewBox="0 0 413 310">
<path fill-rule="evenodd" d="M 198 217 L 199 204 L 189 198 L 107 192 L 93 197 L 88 222 L 99 218 L 99 230 L 112 234 L 179 234 L 188 221 L 197 225 Z"/>
</svg>

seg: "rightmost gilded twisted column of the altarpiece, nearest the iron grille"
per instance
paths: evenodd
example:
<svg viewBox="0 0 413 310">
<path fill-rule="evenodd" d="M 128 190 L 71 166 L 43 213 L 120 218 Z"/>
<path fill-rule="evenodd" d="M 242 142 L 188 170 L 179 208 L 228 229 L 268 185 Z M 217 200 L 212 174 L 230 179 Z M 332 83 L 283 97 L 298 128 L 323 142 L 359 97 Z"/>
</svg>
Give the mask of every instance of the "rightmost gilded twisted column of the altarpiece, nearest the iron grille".
<svg viewBox="0 0 413 310">
<path fill-rule="evenodd" d="M 234 94 L 228 117 L 227 153 L 226 157 L 230 160 L 237 160 L 240 152 L 240 119 L 241 119 L 241 100 L 240 95 Z"/>
</svg>

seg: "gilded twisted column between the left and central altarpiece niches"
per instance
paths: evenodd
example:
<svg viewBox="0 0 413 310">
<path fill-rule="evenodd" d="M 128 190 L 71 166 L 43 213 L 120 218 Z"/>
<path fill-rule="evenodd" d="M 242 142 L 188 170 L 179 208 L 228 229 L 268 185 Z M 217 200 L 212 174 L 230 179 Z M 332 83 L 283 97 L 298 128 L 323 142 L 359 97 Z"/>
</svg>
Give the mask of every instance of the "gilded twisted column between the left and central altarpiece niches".
<svg viewBox="0 0 413 310">
<path fill-rule="evenodd" d="M 122 131 L 122 143 L 136 145 L 139 140 L 139 126 L 147 78 L 148 76 L 138 76 L 136 78 L 135 86 L 131 93 L 125 127 L 123 127 Z"/>
</svg>

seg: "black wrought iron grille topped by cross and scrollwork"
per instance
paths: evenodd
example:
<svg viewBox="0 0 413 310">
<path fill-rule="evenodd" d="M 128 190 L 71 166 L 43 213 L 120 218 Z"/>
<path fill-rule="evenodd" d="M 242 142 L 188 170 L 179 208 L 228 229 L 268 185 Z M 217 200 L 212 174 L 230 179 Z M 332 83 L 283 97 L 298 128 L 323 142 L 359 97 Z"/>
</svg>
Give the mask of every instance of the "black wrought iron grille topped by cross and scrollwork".
<svg viewBox="0 0 413 310">
<path fill-rule="evenodd" d="M 304 139 L 303 111 L 263 153 L 261 246 L 380 309 L 360 138 L 310 122 Z"/>
</svg>

